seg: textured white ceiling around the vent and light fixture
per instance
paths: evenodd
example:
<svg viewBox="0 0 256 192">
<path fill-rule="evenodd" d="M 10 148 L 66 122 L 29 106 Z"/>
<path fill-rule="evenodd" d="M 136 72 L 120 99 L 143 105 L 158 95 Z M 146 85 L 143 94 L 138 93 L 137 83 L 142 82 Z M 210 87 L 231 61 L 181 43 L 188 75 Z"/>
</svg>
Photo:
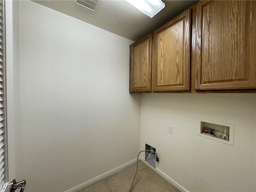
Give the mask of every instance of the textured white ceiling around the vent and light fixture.
<svg viewBox="0 0 256 192">
<path fill-rule="evenodd" d="M 146 16 L 125 0 L 100 0 L 95 12 L 74 3 L 74 0 L 34 0 L 34 2 L 136 41 L 198 1 L 163 0 L 165 8 L 153 18 Z"/>
</svg>

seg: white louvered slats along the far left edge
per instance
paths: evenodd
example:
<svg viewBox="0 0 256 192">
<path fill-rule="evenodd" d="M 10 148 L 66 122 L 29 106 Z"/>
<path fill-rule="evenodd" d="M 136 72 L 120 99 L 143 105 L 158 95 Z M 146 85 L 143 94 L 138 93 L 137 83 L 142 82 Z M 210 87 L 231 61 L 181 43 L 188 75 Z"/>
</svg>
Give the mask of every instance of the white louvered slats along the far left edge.
<svg viewBox="0 0 256 192">
<path fill-rule="evenodd" d="M 6 130 L 6 80 L 5 80 L 5 12 L 4 0 L 0 0 L 0 184 L 8 182 L 7 130 Z"/>
</svg>

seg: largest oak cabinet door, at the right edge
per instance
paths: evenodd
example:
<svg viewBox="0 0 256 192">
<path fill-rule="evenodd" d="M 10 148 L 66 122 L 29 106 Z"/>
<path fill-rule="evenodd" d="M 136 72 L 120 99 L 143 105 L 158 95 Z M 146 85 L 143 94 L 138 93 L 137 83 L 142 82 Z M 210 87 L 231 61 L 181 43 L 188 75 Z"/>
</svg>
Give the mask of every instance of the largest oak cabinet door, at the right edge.
<svg viewBox="0 0 256 192">
<path fill-rule="evenodd" d="M 196 90 L 256 88 L 256 2 L 196 7 Z"/>
</svg>

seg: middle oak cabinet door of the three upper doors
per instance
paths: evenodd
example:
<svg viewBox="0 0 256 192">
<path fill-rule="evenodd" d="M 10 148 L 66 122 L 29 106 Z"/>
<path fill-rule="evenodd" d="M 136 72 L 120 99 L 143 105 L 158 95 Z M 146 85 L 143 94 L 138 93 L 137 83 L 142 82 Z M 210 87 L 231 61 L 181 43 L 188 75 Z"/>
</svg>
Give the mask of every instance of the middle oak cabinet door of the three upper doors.
<svg viewBox="0 0 256 192">
<path fill-rule="evenodd" d="M 153 33 L 153 90 L 190 90 L 190 9 Z"/>
</svg>

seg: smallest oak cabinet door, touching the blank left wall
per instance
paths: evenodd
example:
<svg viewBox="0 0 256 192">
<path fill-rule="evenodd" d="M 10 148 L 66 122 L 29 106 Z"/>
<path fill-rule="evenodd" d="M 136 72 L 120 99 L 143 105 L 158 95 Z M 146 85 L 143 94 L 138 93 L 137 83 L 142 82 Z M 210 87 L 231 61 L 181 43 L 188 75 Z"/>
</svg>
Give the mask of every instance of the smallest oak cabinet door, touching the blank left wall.
<svg viewBox="0 0 256 192">
<path fill-rule="evenodd" d="M 151 92 L 152 34 L 130 45 L 130 92 Z"/>
</svg>

